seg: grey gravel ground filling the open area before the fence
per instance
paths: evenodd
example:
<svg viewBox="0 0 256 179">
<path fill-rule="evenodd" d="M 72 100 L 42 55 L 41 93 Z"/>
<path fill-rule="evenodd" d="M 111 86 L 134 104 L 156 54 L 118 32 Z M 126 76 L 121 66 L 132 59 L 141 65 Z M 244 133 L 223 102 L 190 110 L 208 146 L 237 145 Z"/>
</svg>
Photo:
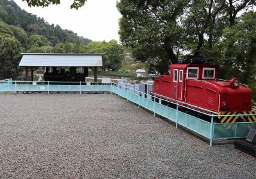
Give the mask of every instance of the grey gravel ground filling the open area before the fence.
<svg viewBox="0 0 256 179">
<path fill-rule="evenodd" d="M 0 94 L 0 178 L 255 178 L 256 159 L 111 94 Z"/>
</svg>

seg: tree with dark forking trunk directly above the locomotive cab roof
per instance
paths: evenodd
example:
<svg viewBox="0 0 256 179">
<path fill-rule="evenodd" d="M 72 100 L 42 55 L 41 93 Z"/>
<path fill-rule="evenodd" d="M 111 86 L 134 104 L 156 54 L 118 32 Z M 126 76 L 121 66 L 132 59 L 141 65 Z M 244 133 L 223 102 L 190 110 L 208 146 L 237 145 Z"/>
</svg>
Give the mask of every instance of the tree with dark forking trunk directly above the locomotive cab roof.
<svg viewBox="0 0 256 179">
<path fill-rule="evenodd" d="M 182 20 L 186 49 L 196 56 L 212 56 L 212 45 L 225 27 L 225 0 L 193 0 Z M 223 15 L 224 14 L 224 15 Z M 227 25 L 226 25 L 227 26 Z"/>
</svg>

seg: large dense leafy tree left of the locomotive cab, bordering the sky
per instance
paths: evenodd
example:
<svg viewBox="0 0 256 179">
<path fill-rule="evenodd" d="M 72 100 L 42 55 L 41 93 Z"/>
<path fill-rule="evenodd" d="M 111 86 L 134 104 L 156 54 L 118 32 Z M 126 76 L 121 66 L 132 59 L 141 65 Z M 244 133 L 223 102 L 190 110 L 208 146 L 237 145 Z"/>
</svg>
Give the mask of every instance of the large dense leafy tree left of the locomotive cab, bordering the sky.
<svg viewBox="0 0 256 179">
<path fill-rule="evenodd" d="M 182 47 L 178 18 L 187 5 L 186 0 L 121 0 L 117 8 L 122 14 L 119 31 L 122 44 L 134 49 L 136 59 L 156 64 L 163 74 L 170 63 L 177 62 Z"/>
</svg>

